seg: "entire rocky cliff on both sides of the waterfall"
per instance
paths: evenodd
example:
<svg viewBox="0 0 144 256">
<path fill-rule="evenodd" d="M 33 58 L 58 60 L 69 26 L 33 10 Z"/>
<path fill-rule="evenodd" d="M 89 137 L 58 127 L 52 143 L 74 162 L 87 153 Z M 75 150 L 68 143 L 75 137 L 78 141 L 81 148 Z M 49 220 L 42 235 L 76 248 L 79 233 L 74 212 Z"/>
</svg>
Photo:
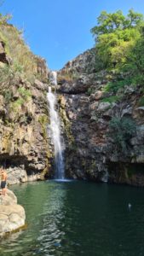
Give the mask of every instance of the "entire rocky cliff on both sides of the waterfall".
<svg viewBox="0 0 144 256">
<path fill-rule="evenodd" d="M 144 185 L 144 95 L 127 73 L 97 71 L 95 49 L 58 72 L 66 177 Z M 8 183 L 53 174 L 46 94 L 49 69 L 20 32 L 0 26 L 0 165 Z M 52 85 L 52 84 L 51 84 Z"/>
</svg>

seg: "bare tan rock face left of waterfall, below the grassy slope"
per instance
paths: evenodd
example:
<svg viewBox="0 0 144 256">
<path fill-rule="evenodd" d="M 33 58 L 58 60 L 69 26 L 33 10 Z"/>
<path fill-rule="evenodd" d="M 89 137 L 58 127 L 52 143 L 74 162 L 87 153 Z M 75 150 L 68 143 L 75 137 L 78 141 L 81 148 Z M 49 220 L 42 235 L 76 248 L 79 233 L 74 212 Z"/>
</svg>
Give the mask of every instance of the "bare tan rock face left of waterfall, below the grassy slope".
<svg viewBox="0 0 144 256">
<path fill-rule="evenodd" d="M 27 175 L 39 179 L 42 172 L 49 171 L 51 155 L 47 85 L 37 80 L 34 84 L 19 80 L 10 87 L 10 102 L 7 103 L 9 92 L 0 97 L 0 162 L 10 173 L 14 168 L 17 173 L 19 170 L 21 181 L 26 181 Z"/>
</svg>

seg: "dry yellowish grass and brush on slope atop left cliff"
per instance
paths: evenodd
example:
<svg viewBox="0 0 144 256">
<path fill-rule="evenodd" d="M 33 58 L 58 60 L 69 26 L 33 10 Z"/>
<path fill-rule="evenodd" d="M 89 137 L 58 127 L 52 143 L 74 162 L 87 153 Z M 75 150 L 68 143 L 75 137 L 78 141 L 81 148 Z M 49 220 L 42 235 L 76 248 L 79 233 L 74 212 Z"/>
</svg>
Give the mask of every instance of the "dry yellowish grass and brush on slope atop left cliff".
<svg viewBox="0 0 144 256">
<path fill-rule="evenodd" d="M 10 65 L 1 65 L 0 77 L 4 84 L 14 79 L 15 75 L 30 82 L 35 78 L 42 79 L 37 73 L 39 57 L 32 54 L 23 39 L 23 32 L 9 24 L 10 15 L 0 14 L 0 42 L 3 42 Z M 4 87 L 4 86 L 3 86 Z"/>
</svg>

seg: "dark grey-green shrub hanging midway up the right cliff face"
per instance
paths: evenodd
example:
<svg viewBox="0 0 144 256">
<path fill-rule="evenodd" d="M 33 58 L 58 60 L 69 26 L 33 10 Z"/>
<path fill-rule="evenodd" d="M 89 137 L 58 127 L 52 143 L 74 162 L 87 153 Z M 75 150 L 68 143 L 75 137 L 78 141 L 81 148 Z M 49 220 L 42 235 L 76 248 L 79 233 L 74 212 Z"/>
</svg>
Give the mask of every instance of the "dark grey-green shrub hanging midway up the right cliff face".
<svg viewBox="0 0 144 256">
<path fill-rule="evenodd" d="M 113 117 L 109 122 L 108 137 L 112 139 L 117 152 L 126 153 L 130 148 L 130 139 L 135 136 L 135 121 L 130 118 Z"/>
</svg>

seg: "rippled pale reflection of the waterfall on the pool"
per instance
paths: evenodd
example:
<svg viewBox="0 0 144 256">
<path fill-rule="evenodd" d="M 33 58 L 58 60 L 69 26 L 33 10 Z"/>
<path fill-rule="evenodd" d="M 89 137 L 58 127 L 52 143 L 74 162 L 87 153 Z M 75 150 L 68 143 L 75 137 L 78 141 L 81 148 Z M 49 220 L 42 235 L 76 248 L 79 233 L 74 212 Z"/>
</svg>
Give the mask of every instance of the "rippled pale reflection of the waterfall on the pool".
<svg viewBox="0 0 144 256">
<path fill-rule="evenodd" d="M 65 232 L 60 228 L 60 224 L 65 222 L 64 202 L 66 189 L 60 185 L 48 195 L 48 201 L 43 206 L 43 230 L 39 232 L 37 241 L 40 242 L 41 251 L 53 253 L 55 246 L 60 247 Z"/>
</svg>

